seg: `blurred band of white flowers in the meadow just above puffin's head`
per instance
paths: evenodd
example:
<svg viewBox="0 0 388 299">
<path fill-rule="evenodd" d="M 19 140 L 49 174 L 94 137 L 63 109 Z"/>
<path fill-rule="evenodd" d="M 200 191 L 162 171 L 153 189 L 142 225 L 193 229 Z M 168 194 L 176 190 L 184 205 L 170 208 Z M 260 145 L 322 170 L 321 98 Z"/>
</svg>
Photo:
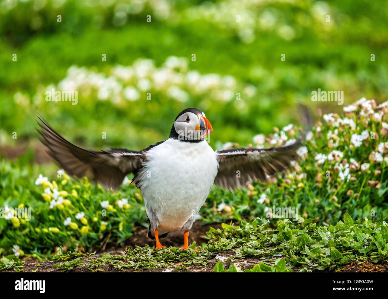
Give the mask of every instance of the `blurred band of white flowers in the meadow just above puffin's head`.
<svg viewBox="0 0 388 299">
<path fill-rule="evenodd" d="M 231 75 L 209 73 L 202 75 L 190 70 L 186 58 L 171 56 L 156 67 L 151 59 L 137 59 L 131 66 L 114 66 L 108 73 L 94 72 L 85 67 L 71 66 L 67 76 L 57 86 L 47 86 L 36 98 L 44 98 L 43 92 L 52 89 L 78 91 L 78 97 L 100 101 L 110 100 L 119 105 L 123 101 L 150 100 L 154 94 L 185 102 L 190 97 L 203 100 L 230 101 L 249 99 L 256 93 L 251 84 L 238 83 Z M 151 98 L 150 98 L 151 97 Z"/>
</svg>

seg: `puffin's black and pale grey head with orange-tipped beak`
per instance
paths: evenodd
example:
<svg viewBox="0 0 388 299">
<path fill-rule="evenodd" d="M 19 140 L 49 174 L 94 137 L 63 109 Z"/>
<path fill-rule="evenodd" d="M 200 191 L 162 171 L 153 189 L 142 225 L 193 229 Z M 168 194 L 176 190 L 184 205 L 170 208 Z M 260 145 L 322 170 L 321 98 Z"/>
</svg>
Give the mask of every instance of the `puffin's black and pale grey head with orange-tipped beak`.
<svg viewBox="0 0 388 299">
<path fill-rule="evenodd" d="M 182 141 L 203 140 L 211 132 L 213 132 L 213 128 L 205 114 L 196 108 L 187 108 L 180 112 L 175 119 L 170 137 Z"/>
</svg>

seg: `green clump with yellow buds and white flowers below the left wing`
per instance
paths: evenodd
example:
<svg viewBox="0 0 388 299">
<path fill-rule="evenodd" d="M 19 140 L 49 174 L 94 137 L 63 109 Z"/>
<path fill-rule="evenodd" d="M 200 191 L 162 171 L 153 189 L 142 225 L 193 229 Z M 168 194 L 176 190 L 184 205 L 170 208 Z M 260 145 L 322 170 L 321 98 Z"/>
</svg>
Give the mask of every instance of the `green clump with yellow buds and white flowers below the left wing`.
<svg viewBox="0 0 388 299">
<path fill-rule="evenodd" d="M 135 222 L 146 222 L 143 199 L 133 187 L 107 192 L 86 178 L 73 180 L 66 173 L 35 185 L 26 168 L 5 160 L 0 161 L 0 173 L 1 206 L 31 209 L 22 219 L 0 219 L 0 248 L 6 252 L 18 245 L 26 253 L 42 257 L 61 245 L 73 251 L 110 242 L 122 244 L 132 235 Z M 55 192 L 59 192 L 56 199 Z"/>
</svg>

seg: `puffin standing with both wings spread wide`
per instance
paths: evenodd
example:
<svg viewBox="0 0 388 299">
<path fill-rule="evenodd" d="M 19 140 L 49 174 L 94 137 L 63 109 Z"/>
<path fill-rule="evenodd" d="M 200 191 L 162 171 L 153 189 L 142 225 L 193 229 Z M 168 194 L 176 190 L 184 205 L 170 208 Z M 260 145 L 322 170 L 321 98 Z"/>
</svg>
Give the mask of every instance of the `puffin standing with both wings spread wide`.
<svg viewBox="0 0 388 299">
<path fill-rule="evenodd" d="M 90 173 L 93 180 L 117 190 L 126 175 L 144 198 L 148 237 L 156 249 L 160 238 L 183 231 L 188 249 L 189 231 L 213 184 L 224 189 L 245 188 L 248 182 L 265 181 L 299 158 L 302 139 L 291 145 L 267 149 L 239 148 L 215 151 L 208 144 L 213 131 L 210 121 L 197 108 L 180 112 L 165 141 L 135 151 L 128 149 L 88 150 L 78 147 L 38 116 L 37 131 L 47 153 L 69 174 L 78 178 Z"/>
</svg>

